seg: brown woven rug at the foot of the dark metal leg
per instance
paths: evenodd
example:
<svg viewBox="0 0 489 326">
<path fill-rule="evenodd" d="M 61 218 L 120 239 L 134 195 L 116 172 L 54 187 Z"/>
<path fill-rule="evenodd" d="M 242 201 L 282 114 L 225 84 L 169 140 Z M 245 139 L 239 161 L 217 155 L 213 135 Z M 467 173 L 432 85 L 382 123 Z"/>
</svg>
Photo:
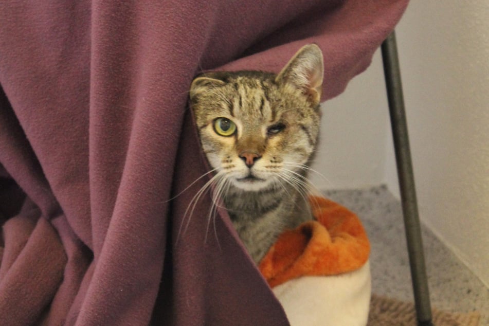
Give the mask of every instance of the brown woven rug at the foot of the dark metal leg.
<svg viewBox="0 0 489 326">
<path fill-rule="evenodd" d="M 478 326 L 480 314 L 478 312 L 451 313 L 433 309 L 432 318 L 436 326 Z M 414 304 L 373 295 L 368 326 L 393 325 L 416 325 Z"/>
</svg>

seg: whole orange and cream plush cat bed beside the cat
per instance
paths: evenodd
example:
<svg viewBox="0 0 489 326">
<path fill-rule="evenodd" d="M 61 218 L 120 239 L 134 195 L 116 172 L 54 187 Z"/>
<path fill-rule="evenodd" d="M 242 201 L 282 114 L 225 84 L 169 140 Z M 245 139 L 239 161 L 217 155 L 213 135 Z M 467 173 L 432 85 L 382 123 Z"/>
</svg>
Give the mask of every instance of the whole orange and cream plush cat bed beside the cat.
<svg viewBox="0 0 489 326">
<path fill-rule="evenodd" d="M 281 234 L 260 271 L 291 325 L 365 325 L 370 303 L 370 244 L 357 215 L 311 197 L 315 221 Z"/>
</svg>

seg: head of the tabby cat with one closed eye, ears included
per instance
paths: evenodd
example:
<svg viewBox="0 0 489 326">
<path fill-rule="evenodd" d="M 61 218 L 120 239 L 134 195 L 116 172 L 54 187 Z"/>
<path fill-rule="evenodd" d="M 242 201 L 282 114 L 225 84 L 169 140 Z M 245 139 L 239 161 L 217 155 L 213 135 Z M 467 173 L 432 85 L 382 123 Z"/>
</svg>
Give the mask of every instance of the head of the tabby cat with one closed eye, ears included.
<svg viewBox="0 0 489 326">
<path fill-rule="evenodd" d="M 197 77 L 190 105 L 210 165 L 247 191 L 298 178 L 294 173 L 309 161 L 317 141 L 322 78 L 322 53 L 314 44 L 302 47 L 278 75 Z"/>
</svg>

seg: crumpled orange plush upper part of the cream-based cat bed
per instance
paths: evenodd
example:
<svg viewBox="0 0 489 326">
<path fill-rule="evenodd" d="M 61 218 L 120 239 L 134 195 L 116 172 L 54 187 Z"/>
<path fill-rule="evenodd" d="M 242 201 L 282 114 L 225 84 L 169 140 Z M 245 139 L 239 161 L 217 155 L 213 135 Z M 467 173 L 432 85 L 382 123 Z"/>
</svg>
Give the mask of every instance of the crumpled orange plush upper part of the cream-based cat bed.
<svg viewBox="0 0 489 326">
<path fill-rule="evenodd" d="M 316 221 L 282 233 L 260 262 L 270 287 L 300 276 L 348 273 L 369 258 L 367 233 L 353 212 L 321 197 L 309 202 Z"/>
</svg>

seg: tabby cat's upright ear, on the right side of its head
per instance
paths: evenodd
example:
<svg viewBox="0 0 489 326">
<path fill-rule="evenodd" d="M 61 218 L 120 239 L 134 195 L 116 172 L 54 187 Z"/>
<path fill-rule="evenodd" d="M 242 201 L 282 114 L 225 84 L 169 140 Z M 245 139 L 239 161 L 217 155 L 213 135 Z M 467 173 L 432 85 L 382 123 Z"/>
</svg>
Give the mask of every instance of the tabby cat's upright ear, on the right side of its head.
<svg viewBox="0 0 489 326">
<path fill-rule="evenodd" d="M 314 103 L 319 103 L 323 75 L 321 49 L 316 44 L 307 44 L 297 51 L 275 80 L 298 88 Z"/>
</svg>

